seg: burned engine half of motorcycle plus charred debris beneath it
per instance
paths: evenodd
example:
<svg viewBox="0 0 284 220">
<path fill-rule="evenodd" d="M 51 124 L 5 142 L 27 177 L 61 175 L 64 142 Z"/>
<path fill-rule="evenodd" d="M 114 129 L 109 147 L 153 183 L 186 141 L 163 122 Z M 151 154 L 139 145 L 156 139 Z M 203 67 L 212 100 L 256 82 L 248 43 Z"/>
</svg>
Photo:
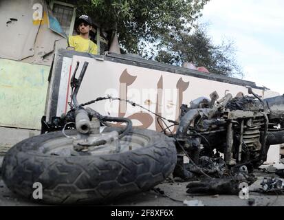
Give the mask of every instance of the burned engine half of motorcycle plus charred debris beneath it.
<svg viewBox="0 0 284 220">
<path fill-rule="evenodd" d="M 252 171 L 265 162 L 270 145 L 284 142 L 284 96 L 261 100 L 251 88 L 248 93 L 217 101 L 214 92 L 211 100 L 182 105 L 173 176 L 193 181 L 188 193 L 238 193 L 240 183 L 256 180 Z M 199 177 L 205 179 L 195 182 Z"/>
</svg>

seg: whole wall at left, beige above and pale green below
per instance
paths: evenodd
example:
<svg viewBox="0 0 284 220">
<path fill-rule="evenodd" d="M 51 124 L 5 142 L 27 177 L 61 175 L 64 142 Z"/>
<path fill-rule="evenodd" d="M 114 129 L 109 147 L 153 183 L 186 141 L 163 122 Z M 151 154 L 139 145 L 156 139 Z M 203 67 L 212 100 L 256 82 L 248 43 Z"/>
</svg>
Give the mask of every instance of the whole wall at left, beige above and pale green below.
<svg viewBox="0 0 284 220">
<path fill-rule="evenodd" d="M 45 0 L 1 0 L 0 21 L 0 126 L 41 129 L 53 54 L 66 36 Z"/>
</svg>

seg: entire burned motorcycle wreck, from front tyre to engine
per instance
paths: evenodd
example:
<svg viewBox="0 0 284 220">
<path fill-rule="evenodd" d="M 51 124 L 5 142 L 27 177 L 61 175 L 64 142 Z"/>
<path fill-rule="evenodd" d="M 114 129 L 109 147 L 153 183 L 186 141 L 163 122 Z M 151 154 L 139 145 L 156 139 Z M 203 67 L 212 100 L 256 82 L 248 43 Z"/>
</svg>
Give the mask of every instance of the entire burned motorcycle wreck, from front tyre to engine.
<svg viewBox="0 0 284 220">
<path fill-rule="evenodd" d="M 88 63 L 76 79 L 79 65 L 71 80 L 71 110 L 48 122 L 43 117 L 42 134 L 16 144 L 3 160 L 3 181 L 18 195 L 33 199 L 33 184 L 40 183 L 43 199 L 37 202 L 111 203 L 150 190 L 171 173 L 187 180 L 210 178 L 191 182 L 188 192 L 237 192 L 240 181 L 254 181 L 249 171 L 265 161 L 269 146 L 284 142 L 283 96 L 261 100 L 250 89 L 252 97 L 227 94 L 218 100 L 213 93 L 211 100 L 183 105 L 179 122 L 168 120 L 177 133 L 165 135 L 86 107 L 100 100 L 140 106 L 134 102 L 107 96 L 79 104 Z M 190 163 L 184 164 L 184 155 Z"/>
</svg>

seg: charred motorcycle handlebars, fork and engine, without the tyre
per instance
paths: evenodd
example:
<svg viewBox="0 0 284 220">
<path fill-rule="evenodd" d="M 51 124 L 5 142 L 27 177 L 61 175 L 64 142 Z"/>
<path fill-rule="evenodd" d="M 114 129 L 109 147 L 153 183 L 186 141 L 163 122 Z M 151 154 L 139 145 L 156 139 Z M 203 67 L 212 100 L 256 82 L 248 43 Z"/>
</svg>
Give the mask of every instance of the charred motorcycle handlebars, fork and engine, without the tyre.
<svg viewBox="0 0 284 220">
<path fill-rule="evenodd" d="M 82 105 L 78 104 L 76 96 L 87 69 L 87 63 L 85 63 L 80 77 L 76 79 L 78 65 L 79 63 L 71 81 L 73 104 L 70 103 L 70 105 L 72 109 L 61 118 L 52 118 L 51 122 L 45 122 L 45 118 L 43 118 L 42 133 L 60 131 L 63 128 L 76 128 L 81 135 L 91 133 L 91 129 L 93 129 L 93 133 L 96 130 L 98 134 L 100 123 L 126 122 L 126 129 L 118 136 L 121 138 L 131 131 L 130 120 L 103 117 L 93 109 L 84 109 Z M 182 104 L 177 133 L 166 133 L 175 138 L 179 152 L 178 163 L 183 164 L 181 158 L 184 156 L 184 151 L 181 151 L 179 147 L 182 146 L 192 162 L 197 165 L 202 156 L 218 158 L 220 154 L 223 154 L 224 161 L 229 167 L 244 164 L 258 167 L 263 164 L 270 145 L 284 143 L 284 95 L 261 99 L 254 94 L 250 87 L 248 93 L 251 96 L 243 96 L 242 93 L 239 93 L 233 98 L 231 94 L 226 94 L 219 99 L 219 95 L 215 91 L 210 94 L 211 99 L 197 98 L 190 102 L 189 107 Z M 105 99 L 98 98 L 87 104 Z M 94 123 L 91 123 L 92 118 L 93 121 L 96 118 L 100 122 L 95 123 L 96 127 L 94 127 Z M 113 137 L 108 138 L 113 139 Z M 79 145 L 87 147 L 109 142 L 109 139 L 103 138 L 98 142 L 91 141 L 90 137 L 84 140 L 87 143 Z M 76 149 L 82 150 L 82 147 L 78 147 L 77 143 Z"/>
</svg>

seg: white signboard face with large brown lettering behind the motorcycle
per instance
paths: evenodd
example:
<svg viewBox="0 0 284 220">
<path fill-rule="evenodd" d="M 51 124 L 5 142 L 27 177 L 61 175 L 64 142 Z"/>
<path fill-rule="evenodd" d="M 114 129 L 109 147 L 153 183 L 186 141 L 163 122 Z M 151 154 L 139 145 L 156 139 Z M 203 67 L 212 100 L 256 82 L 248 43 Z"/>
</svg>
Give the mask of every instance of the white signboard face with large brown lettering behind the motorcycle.
<svg viewBox="0 0 284 220">
<path fill-rule="evenodd" d="M 84 56 L 73 56 L 70 64 L 70 58 L 67 59 L 68 62 L 63 59 L 61 69 L 60 95 L 56 113 L 58 117 L 69 110 L 67 104 L 71 101 L 69 78 L 74 72 L 77 61 L 80 62 L 78 73 L 80 73 L 85 61 L 89 63 L 80 91 L 78 91 L 78 102 L 80 103 L 111 95 L 114 98 L 120 97 L 142 104 L 145 109 L 162 115 L 164 118 L 178 120 L 182 104 L 189 104 L 192 100 L 201 96 L 209 98 L 213 91 L 217 91 L 220 98 L 226 92 L 231 93 L 232 96 L 236 96 L 239 92 L 248 94 L 248 89 L 245 86 L 173 74 L 151 69 L 151 66 L 144 68 L 124 63 L 100 61 L 96 58 Z M 70 65 L 72 65 L 71 71 Z M 263 98 L 278 96 L 276 92 L 270 90 L 253 90 Z M 131 104 L 107 100 L 96 102 L 89 107 L 96 109 L 102 115 L 127 117 L 133 120 L 133 126 L 162 131 L 155 115 L 142 110 L 140 107 L 133 107 Z M 177 127 L 172 129 L 175 131 Z"/>
</svg>

